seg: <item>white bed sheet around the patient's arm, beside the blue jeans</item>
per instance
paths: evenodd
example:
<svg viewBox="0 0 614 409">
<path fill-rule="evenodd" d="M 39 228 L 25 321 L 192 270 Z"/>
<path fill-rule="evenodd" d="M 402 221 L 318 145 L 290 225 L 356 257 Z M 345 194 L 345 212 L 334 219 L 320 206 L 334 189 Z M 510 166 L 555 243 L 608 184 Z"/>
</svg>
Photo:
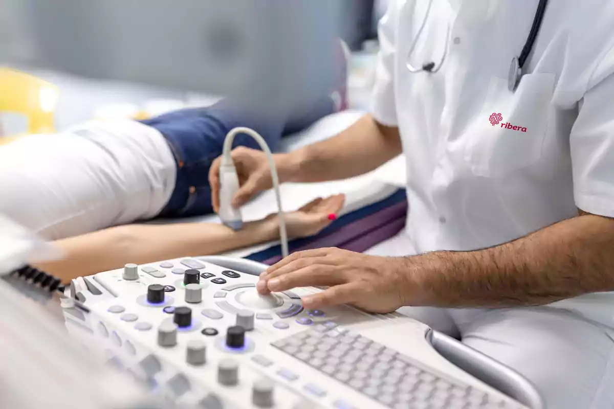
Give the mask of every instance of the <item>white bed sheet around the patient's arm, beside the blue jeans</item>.
<svg viewBox="0 0 614 409">
<path fill-rule="evenodd" d="M 308 129 L 282 140 L 281 150 L 292 151 L 320 140 L 328 139 L 343 131 L 364 115 L 363 112 L 348 110 L 335 113 L 317 121 Z M 378 169 L 365 175 L 323 183 L 284 183 L 280 186 L 281 202 L 284 211 L 292 211 L 315 199 L 333 194 L 346 194 L 346 204 L 341 214 L 352 212 L 365 203 L 375 202 L 386 197 L 397 188 L 404 188 L 406 180 L 405 158 L 398 156 Z M 263 192 L 242 208 L 244 221 L 260 220 L 277 211 L 275 195 L 272 190 Z M 220 223 L 217 215 L 182 218 L 180 220 L 161 220 L 155 223 Z M 264 243 L 227 253 L 228 256 L 244 257 L 264 250 L 278 242 Z M 193 254 L 198 255 L 198 254 Z"/>
</svg>

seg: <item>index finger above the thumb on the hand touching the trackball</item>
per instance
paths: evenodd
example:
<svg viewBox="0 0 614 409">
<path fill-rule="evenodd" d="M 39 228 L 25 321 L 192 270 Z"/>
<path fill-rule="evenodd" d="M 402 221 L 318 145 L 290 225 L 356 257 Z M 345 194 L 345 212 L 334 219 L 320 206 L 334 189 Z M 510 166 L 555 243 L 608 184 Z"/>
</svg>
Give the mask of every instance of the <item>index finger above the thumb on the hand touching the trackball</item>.
<svg viewBox="0 0 614 409">
<path fill-rule="evenodd" d="M 335 286 L 343 283 L 345 283 L 344 275 L 340 274 L 335 267 L 317 264 L 266 280 L 269 291 L 286 291 L 310 286 Z"/>
</svg>

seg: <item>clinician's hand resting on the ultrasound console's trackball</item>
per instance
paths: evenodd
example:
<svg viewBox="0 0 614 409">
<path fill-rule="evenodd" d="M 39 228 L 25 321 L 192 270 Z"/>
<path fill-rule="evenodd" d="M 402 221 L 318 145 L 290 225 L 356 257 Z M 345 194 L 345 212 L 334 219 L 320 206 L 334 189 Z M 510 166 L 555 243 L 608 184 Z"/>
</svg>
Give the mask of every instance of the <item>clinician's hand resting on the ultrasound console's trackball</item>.
<svg viewBox="0 0 614 409">
<path fill-rule="evenodd" d="M 406 258 L 367 256 L 338 248 L 293 253 L 260 275 L 260 294 L 303 286 L 328 286 L 303 297 L 305 308 L 351 304 L 361 310 L 389 313 L 406 305 L 417 291 Z"/>
</svg>

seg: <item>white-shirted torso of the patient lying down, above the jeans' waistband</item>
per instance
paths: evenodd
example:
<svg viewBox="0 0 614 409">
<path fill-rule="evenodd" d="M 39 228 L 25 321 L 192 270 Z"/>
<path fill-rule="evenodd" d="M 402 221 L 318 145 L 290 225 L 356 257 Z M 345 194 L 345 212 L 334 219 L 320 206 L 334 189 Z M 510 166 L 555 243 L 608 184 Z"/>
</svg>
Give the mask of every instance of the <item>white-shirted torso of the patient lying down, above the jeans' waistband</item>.
<svg viewBox="0 0 614 409">
<path fill-rule="evenodd" d="M 152 218 L 174 188 L 165 140 L 134 121 L 85 124 L 0 148 L 0 213 L 61 239 Z"/>
</svg>

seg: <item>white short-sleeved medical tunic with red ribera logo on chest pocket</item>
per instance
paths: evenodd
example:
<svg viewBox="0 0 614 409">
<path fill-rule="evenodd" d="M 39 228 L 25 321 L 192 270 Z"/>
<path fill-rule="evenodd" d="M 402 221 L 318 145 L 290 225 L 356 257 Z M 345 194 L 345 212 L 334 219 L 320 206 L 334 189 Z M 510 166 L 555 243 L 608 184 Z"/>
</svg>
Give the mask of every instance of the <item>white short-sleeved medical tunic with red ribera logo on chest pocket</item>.
<svg viewBox="0 0 614 409">
<path fill-rule="evenodd" d="M 416 250 L 492 247 L 578 208 L 614 217 L 614 2 L 548 2 L 515 92 L 538 0 L 433 0 L 426 17 L 428 4 L 392 0 L 380 21 L 372 110 L 400 128 Z M 440 71 L 411 74 L 407 61 L 440 61 L 448 32 Z M 612 293 L 554 305 L 614 325 Z"/>
</svg>

